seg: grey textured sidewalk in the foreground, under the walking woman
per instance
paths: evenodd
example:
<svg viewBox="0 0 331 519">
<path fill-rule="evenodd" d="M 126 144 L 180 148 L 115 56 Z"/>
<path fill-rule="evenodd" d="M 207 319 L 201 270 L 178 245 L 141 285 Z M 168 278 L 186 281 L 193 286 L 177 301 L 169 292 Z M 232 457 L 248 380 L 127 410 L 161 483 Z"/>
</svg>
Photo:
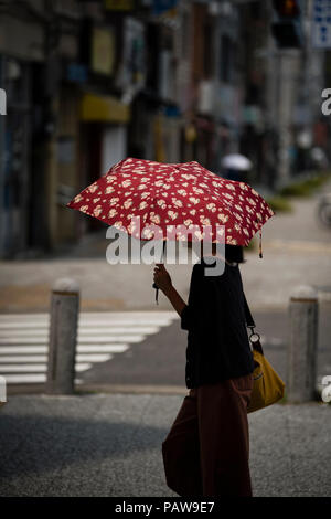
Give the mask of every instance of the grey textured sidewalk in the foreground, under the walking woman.
<svg viewBox="0 0 331 519">
<path fill-rule="evenodd" d="M 1 410 L 0 496 L 175 497 L 161 443 L 183 396 L 11 396 Z M 331 496 L 331 406 L 249 414 L 254 495 Z"/>
</svg>

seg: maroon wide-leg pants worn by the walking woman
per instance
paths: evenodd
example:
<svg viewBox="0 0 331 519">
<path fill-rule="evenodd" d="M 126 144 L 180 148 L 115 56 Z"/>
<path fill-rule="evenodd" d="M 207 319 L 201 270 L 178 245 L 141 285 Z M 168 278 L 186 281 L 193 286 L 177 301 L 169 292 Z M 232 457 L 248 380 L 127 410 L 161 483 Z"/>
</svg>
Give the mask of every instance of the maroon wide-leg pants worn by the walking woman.
<svg viewBox="0 0 331 519">
<path fill-rule="evenodd" d="M 250 497 L 247 405 L 253 374 L 191 389 L 162 443 L 166 480 L 182 497 Z"/>
</svg>

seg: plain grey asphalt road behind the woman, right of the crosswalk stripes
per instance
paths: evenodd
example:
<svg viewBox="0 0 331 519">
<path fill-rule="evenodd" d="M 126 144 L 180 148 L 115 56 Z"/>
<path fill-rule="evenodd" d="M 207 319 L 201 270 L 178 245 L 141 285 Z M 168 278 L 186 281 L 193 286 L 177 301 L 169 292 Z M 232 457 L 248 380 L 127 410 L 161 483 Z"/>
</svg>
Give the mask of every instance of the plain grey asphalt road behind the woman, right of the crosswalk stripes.
<svg viewBox="0 0 331 519">
<path fill-rule="evenodd" d="M 254 313 L 256 330 L 263 336 L 265 354 L 287 381 L 288 313 Z M 331 303 L 320 305 L 318 374 L 331 374 Z M 180 320 L 148 336 L 108 362 L 79 374 L 86 384 L 151 385 L 184 388 L 186 331 Z"/>
</svg>

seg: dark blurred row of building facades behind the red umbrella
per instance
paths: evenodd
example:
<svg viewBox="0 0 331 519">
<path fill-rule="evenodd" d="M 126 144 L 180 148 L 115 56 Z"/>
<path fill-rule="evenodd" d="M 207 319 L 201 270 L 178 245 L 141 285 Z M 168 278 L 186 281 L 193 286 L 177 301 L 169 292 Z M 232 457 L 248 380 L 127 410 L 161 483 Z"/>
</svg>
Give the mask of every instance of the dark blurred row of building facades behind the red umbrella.
<svg viewBox="0 0 331 519">
<path fill-rule="evenodd" d="M 305 130 L 293 94 L 307 55 L 279 57 L 271 15 L 261 0 L 1 2 L 0 257 L 100 229 L 65 204 L 127 156 L 221 172 L 243 152 L 249 180 L 273 186 L 281 138 L 295 149 Z"/>
</svg>

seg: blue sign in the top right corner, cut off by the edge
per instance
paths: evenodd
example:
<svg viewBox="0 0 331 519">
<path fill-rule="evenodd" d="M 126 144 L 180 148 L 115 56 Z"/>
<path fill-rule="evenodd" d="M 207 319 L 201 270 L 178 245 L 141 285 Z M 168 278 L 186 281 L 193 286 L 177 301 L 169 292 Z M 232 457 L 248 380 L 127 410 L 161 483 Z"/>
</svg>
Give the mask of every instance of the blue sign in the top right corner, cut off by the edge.
<svg viewBox="0 0 331 519">
<path fill-rule="evenodd" d="M 331 0 L 313 0 L 311 17 L 312 46 L 331 49 Z"/>
</svg>

